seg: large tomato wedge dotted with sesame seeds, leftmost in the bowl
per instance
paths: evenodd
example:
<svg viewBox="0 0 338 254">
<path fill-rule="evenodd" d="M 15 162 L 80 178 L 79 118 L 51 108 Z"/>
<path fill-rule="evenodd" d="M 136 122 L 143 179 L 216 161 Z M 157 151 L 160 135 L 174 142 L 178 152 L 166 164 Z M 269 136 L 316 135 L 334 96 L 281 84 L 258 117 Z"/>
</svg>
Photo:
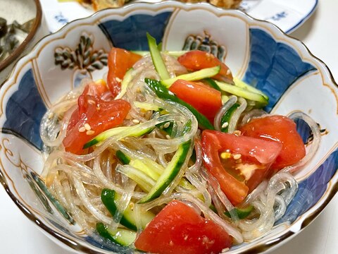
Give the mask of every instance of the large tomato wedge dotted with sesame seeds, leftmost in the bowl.
<svg viewBox="0 0 338 254">
<path fill-rule="evenodd" d="M 104 100 L 109 97 L 112 98 L 111 92 L 104 82 L 93 82 L 84 88 L 63 139 L 67 152 L 82 154 L 85 143 L 99 133 L 123 123 L 130 104 L 123 99 Z"/>
</svg>

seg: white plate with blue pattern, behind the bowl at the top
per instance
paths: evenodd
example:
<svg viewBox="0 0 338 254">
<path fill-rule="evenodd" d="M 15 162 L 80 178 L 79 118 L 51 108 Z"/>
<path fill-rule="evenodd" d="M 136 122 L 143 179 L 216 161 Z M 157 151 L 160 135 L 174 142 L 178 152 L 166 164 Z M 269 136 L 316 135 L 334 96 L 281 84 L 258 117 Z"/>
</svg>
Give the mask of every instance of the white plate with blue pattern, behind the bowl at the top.
<svg viewBox="0 0 338 254">
<path fill-rule="evenodd" d="M 144 1 L 155 3 L 161 0 Z M 94 13 L 92 9 L 84 8 L 76 1 L 40 0 L 40 2 L 51 32 L 56 32 L 72 20 Z M 289 33 L 299 28 L 313 14 L 317 4 L 318 0 L 243 0 L 240 8 L 253 18 L 270 21 Z"/>
</svg>

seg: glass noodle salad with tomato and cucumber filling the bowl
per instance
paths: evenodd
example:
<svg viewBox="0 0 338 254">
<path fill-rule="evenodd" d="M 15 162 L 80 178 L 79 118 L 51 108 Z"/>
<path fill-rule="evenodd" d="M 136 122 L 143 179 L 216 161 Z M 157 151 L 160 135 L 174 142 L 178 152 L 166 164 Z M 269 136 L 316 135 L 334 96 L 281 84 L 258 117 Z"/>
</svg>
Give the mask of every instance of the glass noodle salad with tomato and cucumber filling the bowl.
<svg viewBox="0 0 338 254">
<path fill-rule="evenodd" d="M 198 50 L 113 48 L 40 126 L 42 178 L 84 232 L 121 253 L 221 253 L 268 232 L 296 194 L 318 125 Z M 309 149 L 296 119 L 311 128 Z"/>
</svg>

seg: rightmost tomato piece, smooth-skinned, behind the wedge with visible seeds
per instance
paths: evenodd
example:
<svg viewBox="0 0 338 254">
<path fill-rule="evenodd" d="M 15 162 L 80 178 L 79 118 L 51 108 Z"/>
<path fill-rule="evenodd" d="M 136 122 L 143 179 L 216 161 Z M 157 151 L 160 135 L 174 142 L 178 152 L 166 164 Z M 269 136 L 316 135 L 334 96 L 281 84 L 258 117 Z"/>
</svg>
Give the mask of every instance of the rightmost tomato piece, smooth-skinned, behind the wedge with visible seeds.
<svg viewBox="0 0 338 254">
<path fill-rule="evenodd" d="M 276 171 L 299 162 L 306 155 L 303 140 L 296 130 L 296 123 L 286 116 L 274 115 L 253 119 L 242 126 L 240 131 L 249 137 L 275 140 L 282 144 L 280 155 L 271 165 Z"/>
</svg>

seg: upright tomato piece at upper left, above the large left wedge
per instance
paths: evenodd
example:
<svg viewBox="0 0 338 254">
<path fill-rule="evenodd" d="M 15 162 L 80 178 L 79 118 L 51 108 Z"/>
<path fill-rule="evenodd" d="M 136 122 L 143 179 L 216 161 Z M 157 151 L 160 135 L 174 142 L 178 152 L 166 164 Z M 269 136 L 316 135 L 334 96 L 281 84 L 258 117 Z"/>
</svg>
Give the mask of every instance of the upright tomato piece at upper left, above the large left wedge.
<svg viewBox="0 0 338 254">
<path fill-rule="evenodd" d="M 121 81 L 128 69 L 132 68 L 134 63 L 142 59 L 139 54 L 134 54 L 125 49 L 113 47 L 108 54 L 108 87 L 116 97 L 121 90 Z"/>
</svg>

